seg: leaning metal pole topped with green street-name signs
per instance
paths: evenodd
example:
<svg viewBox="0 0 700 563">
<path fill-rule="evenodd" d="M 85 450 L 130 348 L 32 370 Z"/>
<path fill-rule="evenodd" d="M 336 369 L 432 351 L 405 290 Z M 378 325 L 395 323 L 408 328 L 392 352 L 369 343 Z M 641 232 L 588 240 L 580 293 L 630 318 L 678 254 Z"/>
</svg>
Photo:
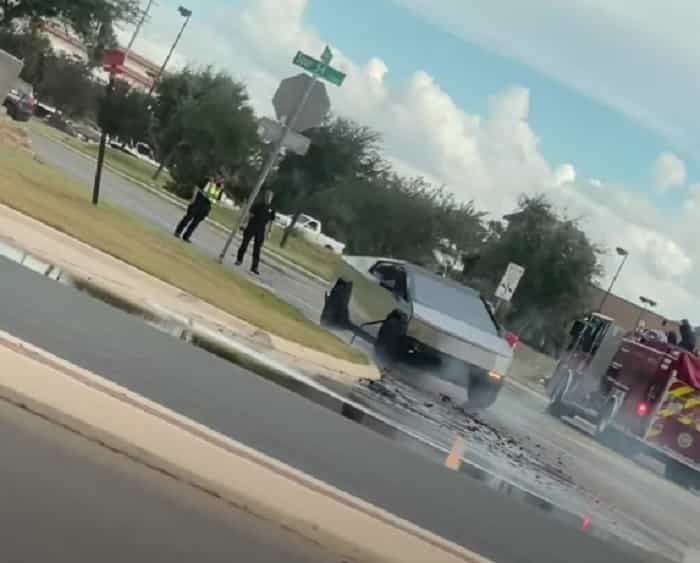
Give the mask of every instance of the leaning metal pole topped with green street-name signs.
<svg viewBox="0 0 700 563">
<path fill-rule="evenodd" d="M 323 54 L 321 55 L 321 60 L 315 59 L 314 57 L 302 53 L 301 51 L 297 52 L 296 56 L 294 57 L 294 64 L 298 67 L 303 68 L 304 70 L 307 70 L 311 74 L 311 80 L 309 80 L 308 86 L 306 87 L 306 89 L 303 92 L 303 95 L 301 96 L 299 105 L 284 123 L 283 131 L 279 137 L 279 140 L 276 141 L 273 145 L 272 150 L 270 151 L 270 155 L 268 156 L 265 165 L 260 171 L 260 176 L 258 176 L 258 180 L 255 182 L 253 191 L 250 194 L 250 197 L 248 198 L 245 207 L 241 210 L 241 217 L 238 221 L 238 224 L 234 229 L 231 230 L 231 233 L 226 239 L 226 243 L 224 244 L 224 247 L 221 250 L 221 253 L 219 254 L 219 263 L 222 264 L 226 259 L 226 254 L 228 254 L 228 251 L 231 248 L 231 244 L 233 244 L 233 239 L 236 237 L 236 233 L 240 230 L 243 221 L 245 221 L 248 217 L 250 208 L 253 206 L 253 203 L 257 199 L 260 190 L 265 184 L 265 180 L 267 180 L 267 177 L 270 175 L 270 172 L 272 172 L 272 169 L 274 168 L 275 163 L 277 162 L 277 158 L 279 157 L 282 148 L 286 144 L 287 136 L 289 135 L 290 131 L 295 130 L 297 120 L 302 115 L 306 103 L 309 101 L 309 98 L 311 97 L 311 94 L 314 91 L 314 87 L 316 86 L 318 80 L 326 80 L 332 84 L 335 84 L 336 86 L 341 86 L 343 81 L 345 80 L 344 73 L 330 66 L 332 60 L 333 53 L 331 52 L 329 47 L 326 47 L 324 49 Z M 317 125 L 320 125 L 320 123 L 318 123 Z"/>
</svg>

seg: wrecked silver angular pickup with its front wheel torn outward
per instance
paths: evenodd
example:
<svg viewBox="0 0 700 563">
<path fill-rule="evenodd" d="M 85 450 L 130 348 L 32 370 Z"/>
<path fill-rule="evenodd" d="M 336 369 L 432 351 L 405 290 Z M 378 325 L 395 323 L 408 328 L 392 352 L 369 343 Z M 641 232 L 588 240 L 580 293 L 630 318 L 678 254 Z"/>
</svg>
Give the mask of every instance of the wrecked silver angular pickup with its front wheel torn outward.
<svg viewBox="0 0 700 563">
<path fill-rule="evenodd" d="M 419 368 L 416 387 L 464 409 L 496 401 L 513 350 L 477 291 L 387 258 L 344 256 L 335 278 L 324 325 L 373 338 L 378 358 Z"/>
</svg>

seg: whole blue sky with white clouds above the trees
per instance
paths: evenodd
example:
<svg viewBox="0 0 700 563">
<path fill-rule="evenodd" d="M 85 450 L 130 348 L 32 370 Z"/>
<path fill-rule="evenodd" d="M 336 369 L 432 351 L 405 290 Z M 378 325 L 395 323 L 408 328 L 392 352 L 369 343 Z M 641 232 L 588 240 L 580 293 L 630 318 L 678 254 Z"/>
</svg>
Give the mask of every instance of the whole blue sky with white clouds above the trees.
<svg viewBox="0 0 700 563">
<path fill-rule="evenodd" d="M 160 62 L 186 0 L 135 50 Z M 142 0 L 144 6 L 146 0 Z M 700 4 L 692 0 L 197 0 L 170 70 L 213 65 L 273 113 L 297 50 L 347 73 L 333 111 L 397 169 L 499 218 L 547 194 L 608 252 L 600 283 L 700 324 Z M 196 4 L 196 5 L 195 5 Z M 124 29 L 126 42 L 132 29 Z M 696 217 L 698 219 L 696 219 Z"/>
</svg>

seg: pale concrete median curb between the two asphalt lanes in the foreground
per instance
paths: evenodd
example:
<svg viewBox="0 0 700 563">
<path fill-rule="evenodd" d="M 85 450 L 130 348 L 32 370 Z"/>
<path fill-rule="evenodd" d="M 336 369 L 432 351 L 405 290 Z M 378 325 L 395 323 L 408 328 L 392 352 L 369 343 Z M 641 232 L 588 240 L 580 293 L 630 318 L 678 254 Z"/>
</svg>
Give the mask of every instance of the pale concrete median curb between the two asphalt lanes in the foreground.
<svg viewBox="0 0 700 563">
<path fill-rule="evenodd" d="M 0 332 L 0 397 L 362 561 L 490 563 L 177 413 Z M 22 373 L 23 377 L 14 377 Z M 361 540 L 362 546 L 358 546 Z M 400 553 L 396 553 L 397 549 Z"/>
</svg>

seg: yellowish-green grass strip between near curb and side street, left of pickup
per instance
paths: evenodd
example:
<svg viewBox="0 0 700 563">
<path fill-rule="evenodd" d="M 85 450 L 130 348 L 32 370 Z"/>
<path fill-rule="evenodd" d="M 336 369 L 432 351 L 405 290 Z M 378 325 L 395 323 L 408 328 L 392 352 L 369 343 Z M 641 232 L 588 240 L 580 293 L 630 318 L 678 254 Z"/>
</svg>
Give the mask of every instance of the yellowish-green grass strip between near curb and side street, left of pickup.
<svg viewBox="0 0 700 563">
<path fill-rule="evenodd" d="M 367 359 L 296 308 L 16 149 L 0 148 L 0 203 L 119 258 L 261 329 L 355 363 Z"/>
</svg>

